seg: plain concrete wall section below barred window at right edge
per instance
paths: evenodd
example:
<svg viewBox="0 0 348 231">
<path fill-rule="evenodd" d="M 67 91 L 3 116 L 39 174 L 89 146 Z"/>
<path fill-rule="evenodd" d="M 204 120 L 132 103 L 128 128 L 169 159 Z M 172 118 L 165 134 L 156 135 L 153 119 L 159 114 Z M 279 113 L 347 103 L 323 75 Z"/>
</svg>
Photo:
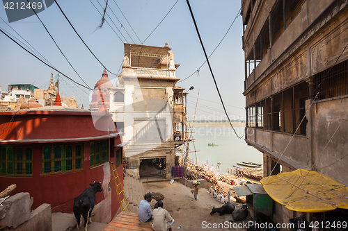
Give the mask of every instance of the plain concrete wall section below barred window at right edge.
<svg viewBox="0 0 348 231">
<path fill-rule="evenodd" d="M 348 97 L 313 104 L 315 169 L 348 186 Z"/>
</svg>

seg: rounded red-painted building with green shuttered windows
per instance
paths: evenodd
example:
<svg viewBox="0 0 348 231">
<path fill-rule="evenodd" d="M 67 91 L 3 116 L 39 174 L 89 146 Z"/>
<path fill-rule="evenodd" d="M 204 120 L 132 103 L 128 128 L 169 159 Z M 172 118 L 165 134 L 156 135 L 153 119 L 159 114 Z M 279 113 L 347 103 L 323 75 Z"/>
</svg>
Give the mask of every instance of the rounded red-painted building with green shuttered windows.
<svg viewBox="0 0 348 231">
<path fill-rule="evenodd" d="M 30 108 L 30 107 L 29 107 Z M 0 191 L 29 192 L 35 209 L 72 212 L 73 200 L 89 183 L 102 181 L 96 194 L 94 221 L 115 216 L 118 198 L 109 161 L 123 185 L 120 134 L 109 112 L 61 106 L 30 108 L 0 114 Z"/>
</svg>

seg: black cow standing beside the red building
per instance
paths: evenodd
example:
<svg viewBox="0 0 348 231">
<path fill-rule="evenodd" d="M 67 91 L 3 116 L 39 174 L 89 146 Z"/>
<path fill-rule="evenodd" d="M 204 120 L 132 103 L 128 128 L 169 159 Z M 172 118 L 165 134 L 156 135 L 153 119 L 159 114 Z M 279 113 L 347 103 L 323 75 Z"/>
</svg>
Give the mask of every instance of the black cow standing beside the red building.
<svg viewBox="0 0 348 231">
<path fill-rule="evenodd" d="M 87 230 L 88 219 L 90 223 L 92 222 L 90 219 L 90 214 L 92 214 L 92 210 L 94 208 L 95 194 L 98 191 L 103 191 L 101 183 L 102 182 L 94 182 L 93 184 L 89 184 L 90 187 L 85 189 L 82 194 L 74 199 L 73 211 L 77 221 L 77 228 L 79 230 L 81 228 L 81 215 L 85 220 L 85 230 Z"/>
</svg>

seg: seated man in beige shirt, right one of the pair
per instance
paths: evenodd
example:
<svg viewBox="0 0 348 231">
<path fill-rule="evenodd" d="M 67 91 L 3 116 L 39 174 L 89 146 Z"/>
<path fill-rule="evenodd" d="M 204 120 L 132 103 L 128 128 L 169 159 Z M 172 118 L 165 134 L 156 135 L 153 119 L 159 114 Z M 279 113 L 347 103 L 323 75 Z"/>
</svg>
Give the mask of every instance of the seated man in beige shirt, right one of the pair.
<svg viewBox="0 0 348 231">
<path fill-rule="evenodd" d="M 171 227 L 174 223 L 173 217 L 168 213 L 166 209 L 163 208 L 163 202 L 159 200 L 157 203 L 158 208 L 153 209 L 152 217 L 153 224 L 152 229 L 155 231 L 167 231 L 171 230 Z"/>
</svg>

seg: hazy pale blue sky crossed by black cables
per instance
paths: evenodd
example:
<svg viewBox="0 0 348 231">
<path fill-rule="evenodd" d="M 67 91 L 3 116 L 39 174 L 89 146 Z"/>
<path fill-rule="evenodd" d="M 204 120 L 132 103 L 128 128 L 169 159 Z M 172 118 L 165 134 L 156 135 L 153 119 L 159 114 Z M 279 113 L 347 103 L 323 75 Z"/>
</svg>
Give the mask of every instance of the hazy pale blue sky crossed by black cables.
<svg viewBox="0 0 348 231">
<path fill-rule="evenodd" d="M 106 22 L 102 28 L 99 28 L 102 21 L 100 12 L 102 12 L 102 6 L 105 6 L 105 1 L 98 1 L 59 0 L 58 3 L 91 51 L 107 69 L 116 74 L 120 74 L 120 65 L 124 56 L 123 43 L 141 44 L 176 2 L 176 0 L 109 0 L 106 10 L 109 16 L 105 15 Z M 190 4 L 208 55 L 214 51 L 230 28 L 224 40 L 209 58 L 209 62 L 230 119 L 245 119 L 245 97 L 242 94 L 244 91 L 243 26 L 242 16 L 239 14 L 241 1 L 191 0 Z M 90 87 L 94 87 L 97 80 L 102 77 L 104 67 L 79 40 L 56 3 L 38 13 L 38 16 L 77 73 Z M 232 24 L 236 16 L 237 19 Z M 3 7 L 0 8 L 0 17 L 8 23 Z M 2 30 L 10 33 L 11 37 L 17 37 L 24 42 L 19 37 L 21 35 L 56 69 L 84 84 L 58 51 L 53 40 L 35 15 L 8 23 L 19 35 L 1 19 L 0 28 Z M 143 44 L 164 46 L 166 42 L 174 53 L 175 63 L 180 64 L 176 76 L 181 80 L 193 74 L 205 62 L 202 46 L 187 2 L 184 0 L 177 1 L 171 12 Z M 47 89 L 51 73 L 56 76 L 57 71 L 26 53 L 15 42 L 0 33 L 0 85 L 3 91 L 7 91 L 8 85 L 19 83 L 30 83 L 36 87 Z M 116 76 L 109 73 L 109 78 L 115 83 Z M 90 90 L 83 87 L 79 88 L 63 77 L 60 83 L 61 96 L 74 95 L 79 106 L 84 104 L 84 108 L 88 108 Z M 193 119 L 195 114 L 197 97 L 196 120 L 226 119 L 207 63 L 199 69 L 199 74 L 195 73 L 177 85 L 187 89 L 191 86 L 194 87 L 188 94 L 189 119 Z"/>
</svg>

